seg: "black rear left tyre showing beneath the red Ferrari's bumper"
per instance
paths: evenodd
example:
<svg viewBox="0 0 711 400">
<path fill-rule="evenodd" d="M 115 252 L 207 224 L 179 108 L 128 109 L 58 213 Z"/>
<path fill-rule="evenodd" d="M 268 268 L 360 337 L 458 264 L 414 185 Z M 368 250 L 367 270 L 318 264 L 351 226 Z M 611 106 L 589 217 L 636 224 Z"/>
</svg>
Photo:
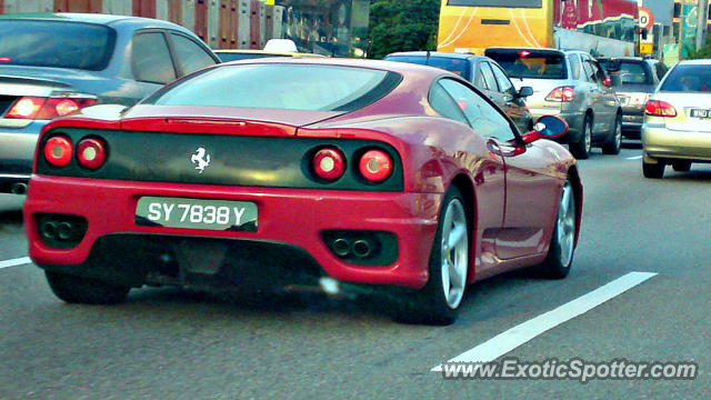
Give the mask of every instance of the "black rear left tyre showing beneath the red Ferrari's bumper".
<svg viewBox="0 0 711 400">
<path fill-rule="evenodd" d="M 66 273 L 46 271 L 44 274 L 54 296 L 68 303 L 116 304 L 123 302 L 131 289 Z"/>
</svg>

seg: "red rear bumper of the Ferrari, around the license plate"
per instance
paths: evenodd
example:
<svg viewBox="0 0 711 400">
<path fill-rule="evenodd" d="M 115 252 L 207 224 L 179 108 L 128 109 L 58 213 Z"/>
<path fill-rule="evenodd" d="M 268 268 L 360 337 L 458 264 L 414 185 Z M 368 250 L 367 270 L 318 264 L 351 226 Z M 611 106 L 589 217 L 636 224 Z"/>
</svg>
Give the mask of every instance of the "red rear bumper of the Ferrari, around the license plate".
<svg viewBox="0 0 711 400">
<path fill-rule="evenodd" d="M 257 229 L 251 232 L 137 224 L 138 201 L 149 196 L 252 202 L 258 210 Z M 36 174 L 24 203 L 24 219 L 29 253 L 38 266 L 133 287 L 152 283 L 157 276 L 176 277 L 179 284 L 191 286 L 200 280 L 221 286 L 249 279 L 277 283 L 296 280 L 297 276 L 328 276 L 346 282 L 421 288 L 428 280 L 441 198 L 438 193 L 197 186 Z M 43 230 L 51 216 L 58 216 L 59 223 L 86 221 L 84 230 L 73 238 L 76 242 L 58 244 Z M 339 251 L 334 246 L 338 239 L 344 239 L 348 246 L 363 239 L 371 248 L 364 257 L 352 257 Z M 380 256 L 371 257 L 372 249 L 377 249 L 372 254 Z"/>
</svg>

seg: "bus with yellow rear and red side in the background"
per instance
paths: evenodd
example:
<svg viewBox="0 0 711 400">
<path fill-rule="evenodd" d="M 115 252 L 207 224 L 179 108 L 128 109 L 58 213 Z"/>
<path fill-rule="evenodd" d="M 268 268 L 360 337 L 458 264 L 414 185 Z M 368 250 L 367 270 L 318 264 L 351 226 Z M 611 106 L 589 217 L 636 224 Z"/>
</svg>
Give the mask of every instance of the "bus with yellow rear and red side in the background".
<svg viewBox="0 0 711 400">
<path fill-rule="evenodd" d="M 482 54 L 490 47 L 589 50 L 633 56 L 630 0 L 442 0 L 438 51 Z"/>
</svg>

